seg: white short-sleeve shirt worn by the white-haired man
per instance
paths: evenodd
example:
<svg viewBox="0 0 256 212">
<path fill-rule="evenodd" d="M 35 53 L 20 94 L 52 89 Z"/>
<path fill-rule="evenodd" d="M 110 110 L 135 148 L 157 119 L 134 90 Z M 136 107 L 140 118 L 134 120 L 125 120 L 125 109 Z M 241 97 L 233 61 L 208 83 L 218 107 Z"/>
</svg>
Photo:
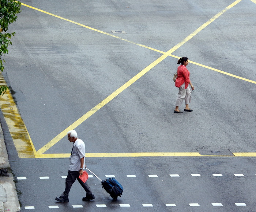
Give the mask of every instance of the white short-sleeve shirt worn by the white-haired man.
<svg viewBox="0 0 256 212">
<path fill-rule="evenodd" d="M 76 139 L 73 144 L 73 150 L 71 156 L 69 156 L 69 169 L 70 171 L 80 170 L 80 159 L 85 158 L 85 145 L 81 139 Z M 83 169 L 85 168 L 85 162 L 83 163 Z"/>
</svg>

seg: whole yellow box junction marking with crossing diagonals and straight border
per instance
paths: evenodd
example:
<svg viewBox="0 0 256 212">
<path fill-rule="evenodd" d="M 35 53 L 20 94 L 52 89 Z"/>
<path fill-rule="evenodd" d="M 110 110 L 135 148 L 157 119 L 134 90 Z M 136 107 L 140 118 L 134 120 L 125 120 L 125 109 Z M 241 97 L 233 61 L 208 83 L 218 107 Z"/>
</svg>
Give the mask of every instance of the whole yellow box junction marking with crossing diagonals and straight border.
<svg viewBox="0 0 256 212">
<path fill-rule="evenodd" d="M 101 107 L 103 107 L 104 105 L 106 105 L 108 102 L 110 102 L 113 98 L 115 98 L 118 94 L 120 94 L 123 90 L 125 90 L 127 87 L 129 87 L 130 85 L 132 85 L 133 82 L 135 82 L 136 80 L 138 80 L 140 77 L 142 77 L 144 74 L 146 74 L 149 70 L 151 70 L 154 66 L 156 66 L 158 63 L 160 63 L 162 60 L 164 60 L 167 56 L 172 56 L 174 58 L 179 58 L 178 56 L 175 56 L 175 55 L 172 55 L 172 52 L 174 52 L 175 50 L 177 50 L 179 47 L 181 47 L 184 43 L 186 43 L 188 40 L 190 40 L 191 38 L 193 38 L 193 36 L 195 36 L 198 32 L 200 32 L 201 30 L 203 30 L 207 25 L 209 25 L 210 23 L 212 23 L 212 21 L 214 21 L 215 19 L 217 19 L 219 16 L 221 16 L 224 12 L 226 12 L 228 9 L 232 8 L 234 5 L 236 5 L 237 3 L 239 3 L 241 0 L 236 0 L 234 1 L 234 3 L 230 4 L 228 7 L 226 7 L 225 9 L 223 9 L 221 12 L 219 12 L 217 15 L 215 15 L 214 17 L 212 17 L 210 20 L 208 20 L 206 23 L 204 23 L 201 27 L 197 28 L 197 30 L 195 30 L 192 34 L 190 34 L 189 36 L 187 36 L 187 38 L 185 38 L 184 40 L 182 40 L 182 42 L 178 43 L 176 46 L 174 46 L 172 49 L 170 49 L 169 51 L 167 52 L 163 52 L 163 51 L 159 51 L 159 50 L 156 50 L 154 48 L 151 48 L 151 47 L 147 47 L 145 45 L 141 45 L 141 44 L 138 44 L 138 43 L 134 43 L 134 42 L 131 42 L 129 40 L 126 40 L 126 39 L 123 39 L 123 38 L 120 38 L 118 36 L 115 36 L 115 35 L 112 35 L 112 34 L 109 34 L 109 33 L 106 33 L 106 32 L 103 32 L 103 31 L 100 31 L 100 30 L 96 30 L 94 28 L 91 28 L 91 27 L 88 27 L 86 25 L 83 25 L 83 24 L 80 24 L 80 23 L 77 23 L 75 21 L 71 21 L 69 19 L 65 19 L 63 17 L 60 17 L 60 16 L 57 16 L 57 15 L 54 15 L 52 13 L 48 13 L 46 11 L 43 11 L 41 9 L 38 9 L 38 8 L 34 8 L 34 7 L 31 7 L 29 5 L 26 5 L 26 4 L 23 4 L 23 6 L 26 6 L 26 7 L 29 7 L 29 8 L 32 8 L 32 9 L 35 9 L 37 11 L 40 11 L 40 12 L 43 12 L 43 13 L 46 13 L 48 15 L 52 15 L 54 17 L 57 17 L 57 18 L 60 18 L 60 19 L 63 19 L 63 20 L 66 20 L 66 21 L 69 21 L 71 23 L 74 23 L 74 24 L 77 24 L 77 25 L 80 25 L 82 27 L 85 27 L 85 28 L 88 28 L 90 30 L 94 30 L 94 31 L 97 31 L 97 32 L 100 32 L 102 34 L 105 34 L 105 35 L 109 35 L 109 36 L 112 36 L 114 38 L 118 38 L 118 39 L 121 39 L 121 40 L 124 40 L 126 42 L 129 42 L 129 43 L 133 43 L 133 44 L 136 44 L 138 46 L 141 46 L 141 47 L 144 47 L 144 48 L 148 48 L 150 50 L 153 50 L 153 51 L 156 51 L 156 52 L 159 52 L 159 53 L 162 53 L 163 55 L 161 57 L 159 57 L 157 60 L 155 60 L 153 63 L 151 63 L 149 66 L 147 66 L 146 68 L 144 68 L 141 72 L 139 72 L 139 74 L 137 74 L 136 76 L 134 76 L 132 79 L 130 79 L 127 83 L 125 83 L 123 86 L 121 86 L 119 89 L 117 89 L 116 91 L 114 91 L 114 93 L 112 93 L 111 95 L 109 95 L 109 97 L 107 97 L 106 99 L 104 99 L 101 103 L 99 103 L 97 106 L 95 106 L 93 109 L 91 109 L 89 112 L 87 112 L 86 114 L 84 114 L 81 118 L 79 118 L 76 122 L 74 122 L 72 125 L 70 125 L 67 129 L 65 129 L 64 131 L 62 131 L 59 135 L 57 135 L 55 138 L 53 138 L 52 141 L 48 142 L 48 144 L 46 144 L 45 146 L 43 146 L 41 149 L 39 149 L 37 152 L 35 151 L 35 148 L 34 148 L 34 145 L 33 145 L 33 142 L 31 141 L 30 139 L 30 136 L 29 136 L 29 133 L 27 132 L 27 129 L 26 129 L 26 126 L 25 124 L 23 123 L 23 131 L 26 132 L 27 134 L 27 141 L 29 142 L 26 142 L 27 144 L 30 143 L 31 145 L 31 149 L 33 150 L 33 153 L 34 153 L 34 157 L 37 157 L 37 158 L 42 158 L 42 157 L 69 157 L 69 154 L 44 154 L 44 152 L 46 150 L 48 150 L 50 147 L 52 147 L 54 144 L 56 144 L 58 141 L 60 141 L 61 138 L 63 138 L 64 136 L 66 136 L 67 134 L 67 131 L 69 130 L 72 130 L 72 129 L 75 129 L 77 126 L 79 126 L 83 121 L 85 121 L 87 118 L 89 118 L 91 115 L 93 115 L 96 111 L 98 111 L 99 109 L 101 109 Z M 205 68 L 208 68 L 208 69 L 211 69 L 211 70 L 214 70 L 214 71 L 218 71 L 218 72 L 221 72 L 222 74 L 227 74 L 227 75 L 230 75 L 230 76 L 233 76 L 233 77 L 236 77 L 236 78 L 239 78 L 239 79 L 242 79 L 242 80 L 246 80 L 248 82 L 252 82 L 252 83 L 256 83 L 255 81 L 250 81 L 248 79 L 245 79 L 245 78 L 241 78 L 239 76 L 236 76 L 236 75 L 233 75 L 233 74 L 229 74 L 227 72 L 224 72 L 224 71 L 221 71 L 221 70 L 217 70 L 215 68 L 211 68 L 211 67 L 208 67 L 208 66 L 204 66 L 202 64 L 199 64 L 199 63 L 196 63 L 196 62 L 192 62 L 190 61 L 191 63 L 193 64 L 196 64 L 196 65 L 199 65 L 199 66 L 202 66 L 202 67 L 205 67 Z M 12 98 L 12 97 L 11 97 Z M 13 99 L 12 99 L 13 101 Z M 1 107 L 2 109 L 2 107 Z M 19 113 L 18 113 L 19 114 Z M 6 118 L 5 118 L 6 119 Z M 20 120 L 22 121 L 21 117 L 20 117 Z M 23 122 L 23 121 L 22 121 Z M 9 127 L 9 125 L 8 125 Z M 14 139 L 14 137 L 13 137 Z M 21 149 L 20 146 L 23 146 L 23 145 L 20 145 L 20 144 L 17 144 L 19 143 L 18 141 L 17 142 L 14 142 L 15 143 L 15 147 L 17 149 L 17 152 L 20 151 L 20 154 L 19 154 L 19 157 L 31 157 L 31 153 L 32 151 L 30 151 L 30 154 L 29 155 L 26 155 L 24 154 L 24 152 L 27 152 L 27 150 L 24 150 L 24 149 Z M 17 144 L 17 146 L 16 146 Z M 18 148 L 17 148 L 18 147 Z M 23 152 L 23 154 L 22 154 Z M 236 154 L 235 156 L 247 156 L 247 157 L 254 157 L 256 156 L 255 154 L 256 153 L 233 153 L 233 154 Z M 250 155 L 250 156 L 249 156 Z M 253 155 L 253 156 L 252 156 Z M 177 156 L 177 157 L 184 157 L 184 156 L 201 156 L 199 153 L 87 153 L 86 154 L 86 157 L 152 157 L 152 156 L 155 156 L 155 157 L 162 157 L 162 156 Z M 33 157 L 33 154 L 32 154 L 32 157 Z M 232 156 L 234 157 L 234 156 Z"/>
</svg>

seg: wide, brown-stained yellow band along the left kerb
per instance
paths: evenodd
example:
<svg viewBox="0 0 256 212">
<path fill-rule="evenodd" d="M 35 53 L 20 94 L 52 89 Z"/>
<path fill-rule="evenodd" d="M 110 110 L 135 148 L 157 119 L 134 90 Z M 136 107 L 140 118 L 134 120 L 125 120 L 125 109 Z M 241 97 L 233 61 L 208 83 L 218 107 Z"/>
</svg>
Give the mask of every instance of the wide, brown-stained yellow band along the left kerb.
<svg viewBox="0 0 256 212">
<path fill-rule="evenodd" d="M 6 85 L 4 77 L 0 72 L 0 85 Z M 29 132 L 20 117 L 14 99 L 7 90 L 4 95 L 0 96 L 0 108 L 3 112 L 5 122 L 10 131 L 12 140 L 20 158 L 34 158 L 36 151 L 29 136 Z"/>
</svg>

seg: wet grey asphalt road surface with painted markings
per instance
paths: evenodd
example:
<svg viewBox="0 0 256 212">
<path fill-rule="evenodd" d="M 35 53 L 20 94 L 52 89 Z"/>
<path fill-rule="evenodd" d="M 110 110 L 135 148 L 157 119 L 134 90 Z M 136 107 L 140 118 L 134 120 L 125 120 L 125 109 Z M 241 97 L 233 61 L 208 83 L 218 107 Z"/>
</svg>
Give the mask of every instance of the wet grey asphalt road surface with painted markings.
<svg viewBox="0 0 256 212">
<path fill-rule="evenodd" d="M 15 118 L 1 97 L 21 211 L 256 211 L 255 0 L 24 0 L 21 9 L 3 58 Z M 182 56 L 193 112 L 174 114 Z M 92 176 L 95 200 L 82 201 L 78 182 L 68 203 L 54 200 L 71 129 L 88 168 L 124 186 L 117 201 Z"/>
</svg>

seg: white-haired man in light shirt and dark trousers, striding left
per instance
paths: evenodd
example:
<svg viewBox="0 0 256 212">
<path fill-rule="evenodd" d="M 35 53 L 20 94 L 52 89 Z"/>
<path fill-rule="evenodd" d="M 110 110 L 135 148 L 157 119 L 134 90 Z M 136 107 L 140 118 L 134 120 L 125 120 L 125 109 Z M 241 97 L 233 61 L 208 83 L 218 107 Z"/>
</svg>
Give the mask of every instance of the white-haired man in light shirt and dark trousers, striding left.
<svg viewBox="0 0 256 212">
<path fill-rule="evenodd" d="M 77 133 L 75 130 L 68 131 L 68 140 L 73 143 L 71 155 L 69 157 L 69 169 L 68 176 L 66 178 L 66 187 L 65 191 L 60 195 L 60 197 L 56 197 L 55 200 L 59 202 L 68 202 L 68 193 L 71 189 L 73 183 L 78 180 L 80 185 L 82 185 L 83 189 L 86 191 L 86 196 L 83 197 L 83 201 L 93 200 L 95 196 L 91 192 L 91 189 L 87 182 L 83 182 L 80 180 L 79 176 L 83 174 L 83 169 L 86 168 L 84 164 L 84 156 L 85 156 L 85 145 L 84 142 L 77 137 Z"/>
</svg>

